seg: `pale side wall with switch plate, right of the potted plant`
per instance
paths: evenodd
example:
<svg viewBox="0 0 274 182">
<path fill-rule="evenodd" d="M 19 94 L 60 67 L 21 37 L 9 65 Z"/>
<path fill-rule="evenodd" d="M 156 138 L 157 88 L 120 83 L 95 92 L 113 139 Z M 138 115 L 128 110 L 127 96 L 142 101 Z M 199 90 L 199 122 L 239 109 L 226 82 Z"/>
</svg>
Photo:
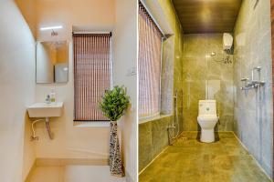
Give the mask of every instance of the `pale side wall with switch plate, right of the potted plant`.
<svg viewBox="0 0 274 182">
<path fill-rule="evenodd" d="M 123 85 L 131 96 L 131 108 L 121 118 L 122 154 L 128 182 L 137 181 L 137 1 L 116 0 L 116 22 L 113 38 L 114 85 Z"/>
</svg>

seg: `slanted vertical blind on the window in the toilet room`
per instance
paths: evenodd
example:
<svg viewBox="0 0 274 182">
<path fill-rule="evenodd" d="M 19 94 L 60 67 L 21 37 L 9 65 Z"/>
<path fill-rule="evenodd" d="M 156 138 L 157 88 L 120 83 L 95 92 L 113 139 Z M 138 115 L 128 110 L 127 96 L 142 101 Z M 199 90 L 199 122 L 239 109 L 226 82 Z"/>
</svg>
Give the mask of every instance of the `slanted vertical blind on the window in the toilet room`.
<svg viewBox="0 0 274 182">
<path fill-rule="evenodd" d="M 139 4 L 139 116 L 160 113 L 162 33 Z"/>
</svg>

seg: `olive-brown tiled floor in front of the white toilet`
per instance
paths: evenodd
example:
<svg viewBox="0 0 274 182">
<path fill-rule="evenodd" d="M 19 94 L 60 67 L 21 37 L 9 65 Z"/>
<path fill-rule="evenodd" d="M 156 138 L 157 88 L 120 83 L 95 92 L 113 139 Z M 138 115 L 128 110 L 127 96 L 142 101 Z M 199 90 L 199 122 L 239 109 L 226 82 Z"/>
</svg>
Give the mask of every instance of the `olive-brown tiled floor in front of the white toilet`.
<svg viewBox="0 0 274 182">
<path fill-rule="evenodd" d="M 218 141 L 197 141 L 196 132 L 184 132 L 139 176 L 140 182 L 265 182 L 269 177 L 241 146 L 232 132 Z"/>
</svg>

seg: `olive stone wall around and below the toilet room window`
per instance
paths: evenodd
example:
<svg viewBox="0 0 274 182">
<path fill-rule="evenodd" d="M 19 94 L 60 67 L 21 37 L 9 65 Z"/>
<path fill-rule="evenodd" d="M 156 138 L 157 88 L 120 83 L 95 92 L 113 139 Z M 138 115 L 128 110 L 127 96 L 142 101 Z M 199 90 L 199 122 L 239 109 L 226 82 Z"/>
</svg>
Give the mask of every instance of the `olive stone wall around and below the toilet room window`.
<svg viewBox="0 0 274 182">
<path fill-rule="evenodd" d="M 139 124 L 139 171 L 168 146 L 167 126 L 174 122 L 174 94 L 178 93 L 178 120 L 183 131 L 183 30 L 171 1 L 158 0 L 174 35 L 163 42 L 161 116 Z"/>
</svg>

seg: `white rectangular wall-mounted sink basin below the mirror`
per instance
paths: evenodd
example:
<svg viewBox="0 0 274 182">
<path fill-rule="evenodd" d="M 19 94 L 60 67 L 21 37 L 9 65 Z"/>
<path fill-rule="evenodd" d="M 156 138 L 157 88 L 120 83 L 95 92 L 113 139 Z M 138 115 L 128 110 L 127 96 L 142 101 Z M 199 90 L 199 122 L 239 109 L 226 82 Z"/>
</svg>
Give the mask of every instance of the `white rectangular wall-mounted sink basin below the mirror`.
<svg viewBox="0 0 274 182">
<path fill-rule="evenodd" d="M 28 116 L 30 117 L 53 117 L 61 116 L 63 103 L 35 103 L 27 107 Z"/>
</svg>

